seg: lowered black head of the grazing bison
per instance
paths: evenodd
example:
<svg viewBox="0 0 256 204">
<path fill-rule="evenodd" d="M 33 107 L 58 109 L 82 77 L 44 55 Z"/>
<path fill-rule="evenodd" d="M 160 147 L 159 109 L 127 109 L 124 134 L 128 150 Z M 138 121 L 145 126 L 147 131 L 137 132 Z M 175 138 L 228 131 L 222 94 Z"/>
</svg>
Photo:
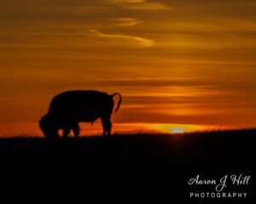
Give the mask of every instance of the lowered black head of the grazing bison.
<svg viewBox="0 0 256 204">
<path fill-rule="evenodd" d="M 45 115 L 39 121 L 39 126 L 44 133 L 45 138 L 56 139 L 59 138 L 58 127 L 55 124 L 53 118 L 49 115 Z"/>
</svg>

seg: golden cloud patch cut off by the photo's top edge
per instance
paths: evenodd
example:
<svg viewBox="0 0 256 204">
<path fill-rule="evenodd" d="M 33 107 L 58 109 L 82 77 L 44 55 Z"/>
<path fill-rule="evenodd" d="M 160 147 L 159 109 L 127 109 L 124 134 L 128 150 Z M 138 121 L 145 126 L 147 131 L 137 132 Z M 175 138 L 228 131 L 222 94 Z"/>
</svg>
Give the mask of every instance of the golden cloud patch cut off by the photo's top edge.
<svg viewBox="0 0 256 204">
<path fill-rule="evenodd" d="M 154 3 L 146 0 L 108 0 L 108 3 L 133 10 L 172 10 L 165 3 Z"/>
</svg>

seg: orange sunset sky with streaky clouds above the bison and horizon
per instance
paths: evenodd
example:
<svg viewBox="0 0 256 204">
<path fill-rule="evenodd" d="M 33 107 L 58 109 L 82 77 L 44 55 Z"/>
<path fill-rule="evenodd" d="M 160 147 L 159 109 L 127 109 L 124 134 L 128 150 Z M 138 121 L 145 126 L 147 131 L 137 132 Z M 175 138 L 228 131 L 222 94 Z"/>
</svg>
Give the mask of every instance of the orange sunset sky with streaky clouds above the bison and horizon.
<svg viewBox="0 0 256 204">
<path fill-rule="evenodd" d="M 1 1 L 0 129 L 72 89 L 122 94 L 125 128 L 256 127 L 255 51 L 254 0 Z"/>
</svg>

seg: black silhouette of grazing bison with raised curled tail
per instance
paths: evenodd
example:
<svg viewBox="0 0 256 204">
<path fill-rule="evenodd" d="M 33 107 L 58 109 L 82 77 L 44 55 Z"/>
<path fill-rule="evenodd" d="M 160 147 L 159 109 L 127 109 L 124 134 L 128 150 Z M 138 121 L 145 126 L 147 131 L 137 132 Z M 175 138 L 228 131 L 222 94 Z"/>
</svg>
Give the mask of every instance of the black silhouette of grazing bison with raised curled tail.
<svg viewBox="0 0 256 204">
<path fill-rule="evenodd" d="M 67 91 L 56 95 L 49 105 L 48 113 L 41 118 L 39 126 L 44 136 L 49 139 L 59 138 L 59 130 L 63 130 L 63 138 L 73 130 L 79 137 L 79 122 L 95 122 L 102 120 L 103 136 L 111 135 L 113 97 L 118 95 L 119 102 L 115 112 L 119 110 L 122 97 L 119 93 L 108 95 L 99 91 Z"/>
</svg>

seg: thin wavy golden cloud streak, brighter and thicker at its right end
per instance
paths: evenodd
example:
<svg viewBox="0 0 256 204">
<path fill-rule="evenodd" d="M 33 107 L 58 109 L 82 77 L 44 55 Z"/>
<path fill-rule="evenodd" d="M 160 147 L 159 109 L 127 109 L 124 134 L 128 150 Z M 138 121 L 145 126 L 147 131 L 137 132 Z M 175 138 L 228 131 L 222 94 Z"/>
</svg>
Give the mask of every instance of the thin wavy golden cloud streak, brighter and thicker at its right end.
<svg viewBox="0 0 256 204">
<path fill-rule="evenodd" d="M 154 46 L 154 41 L 144 38 L 144 37 L 136 37 L 129 35 L 121 35 L 121 34 L 105 34 L 101 31 L 90 30 L 90 32 L 94 33 L 97 37 L 116 39 L 116 40 L 125 40 L 126 46 L 131 46 L 131 42 L 136 42 L 135 46 L 140 48 L 149 48 Z"/>
</svg>

